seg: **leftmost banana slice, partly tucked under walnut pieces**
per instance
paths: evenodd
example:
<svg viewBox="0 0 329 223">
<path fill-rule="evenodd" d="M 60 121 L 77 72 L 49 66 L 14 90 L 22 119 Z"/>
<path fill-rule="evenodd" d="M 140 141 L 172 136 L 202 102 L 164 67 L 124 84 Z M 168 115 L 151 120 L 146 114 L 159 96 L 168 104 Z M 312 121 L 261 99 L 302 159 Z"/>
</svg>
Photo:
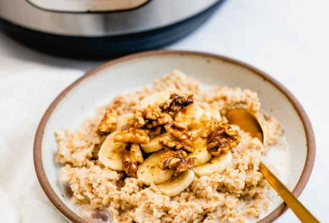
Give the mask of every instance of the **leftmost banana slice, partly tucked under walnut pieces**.
<svg viewBox="0 0 329 223">
<path fill-rule="evenodd" d="M 123 171 L 121 154 L 125 150 L 124 143 L 114 143 L 113 137 L 117 132 L 109 134 L 98 152 L 98 160 L 110 169 Z"/>
</svg>

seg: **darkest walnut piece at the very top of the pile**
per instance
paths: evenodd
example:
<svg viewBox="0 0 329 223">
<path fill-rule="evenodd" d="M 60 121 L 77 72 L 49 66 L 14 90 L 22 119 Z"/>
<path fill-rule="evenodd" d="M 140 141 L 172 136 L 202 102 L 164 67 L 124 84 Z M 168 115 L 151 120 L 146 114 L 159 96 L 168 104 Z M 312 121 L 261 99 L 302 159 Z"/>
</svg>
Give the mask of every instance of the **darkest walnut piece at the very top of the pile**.
<svg viewBox="0 0 329 223">
<path fill-rule="evenodd" d="M 167 111 L 169 115 L 175 115 L 180 110 L 183 110 L 188 104 L 193 103 L 193 95 L 189 95 L 188 97 L 172 94 L 170 95 L 169 100 L 160 104 L 160 108 L 162 110 Z"/>
</svg>

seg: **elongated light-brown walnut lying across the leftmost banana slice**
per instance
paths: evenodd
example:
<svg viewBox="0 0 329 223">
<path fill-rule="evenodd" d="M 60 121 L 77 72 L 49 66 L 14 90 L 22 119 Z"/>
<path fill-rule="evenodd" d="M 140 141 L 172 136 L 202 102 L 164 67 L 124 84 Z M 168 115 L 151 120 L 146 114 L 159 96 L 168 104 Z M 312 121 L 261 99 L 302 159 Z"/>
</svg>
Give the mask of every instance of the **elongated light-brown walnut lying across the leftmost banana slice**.
<svg viewBox="0 0 329 223">
<path fill-rule="evenodd" d="M 141 130 L 136 128 L 128 128 L 127 130 L 121 130 L 114 135 L 113 141 L 115 143 L 141 143 L 145 144 L 149 142 L 149 136 L 147 130 Z"/>
</svg>

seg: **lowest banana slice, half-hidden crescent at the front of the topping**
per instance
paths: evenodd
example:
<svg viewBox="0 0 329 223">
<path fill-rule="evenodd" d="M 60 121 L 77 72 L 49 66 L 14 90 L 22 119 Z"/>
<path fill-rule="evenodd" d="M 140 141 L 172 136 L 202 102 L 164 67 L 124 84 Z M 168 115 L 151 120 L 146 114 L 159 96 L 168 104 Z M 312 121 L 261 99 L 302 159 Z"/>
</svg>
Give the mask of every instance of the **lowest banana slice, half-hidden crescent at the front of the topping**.
<svg viewBox="0 0 329 223">
<path fill-rule="evenodd" d="M 194 178 L 194 172 L 191 169 L 186 170 L 180 176 L 169 180 L 166 183 L 158 185 L 158 189 L 167 196 L 176 196 L 191 185 Z"/>
</svg>

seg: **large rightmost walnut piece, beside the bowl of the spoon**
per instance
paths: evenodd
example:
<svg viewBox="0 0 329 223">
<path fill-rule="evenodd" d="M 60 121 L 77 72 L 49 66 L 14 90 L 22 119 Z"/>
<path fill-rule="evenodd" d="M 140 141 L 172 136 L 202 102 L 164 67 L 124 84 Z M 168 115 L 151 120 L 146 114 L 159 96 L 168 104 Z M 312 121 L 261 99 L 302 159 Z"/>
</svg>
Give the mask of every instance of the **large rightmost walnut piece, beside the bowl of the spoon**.
<svg viewBox="0 0 329 223">
<path fill-rule="evenodd" d="M 214 156 L 219 156 L 221 152 L 228 152 L 238 146 L 240 140 L 241 136 L 237 130 L 232 129 L 227 122 L 220 121 L 212 127 L 208 136 L 208 151 Z"/>
</svg>

